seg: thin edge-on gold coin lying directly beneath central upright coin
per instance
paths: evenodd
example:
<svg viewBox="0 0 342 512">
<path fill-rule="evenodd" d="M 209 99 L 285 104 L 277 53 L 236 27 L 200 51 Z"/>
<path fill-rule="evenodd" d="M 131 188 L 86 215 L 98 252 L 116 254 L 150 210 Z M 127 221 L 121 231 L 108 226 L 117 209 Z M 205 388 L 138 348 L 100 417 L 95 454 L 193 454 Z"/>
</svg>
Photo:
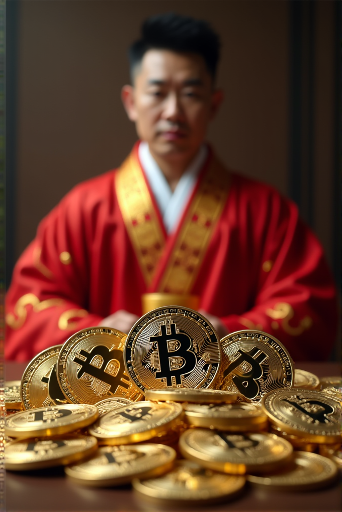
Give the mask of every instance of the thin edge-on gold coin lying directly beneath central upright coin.
<svg viewBox="0 0 342 512">
<path fill-rule="evenodd" d="M 238 393 L 220 391 L 216 389 L 191 389 L 191 388 L 159 388 L 147 389 L 147 400 L 171 400 L 173 402 L 197 402 L 197 403 L 232 403 L 236 402 Z"/>
</svg>

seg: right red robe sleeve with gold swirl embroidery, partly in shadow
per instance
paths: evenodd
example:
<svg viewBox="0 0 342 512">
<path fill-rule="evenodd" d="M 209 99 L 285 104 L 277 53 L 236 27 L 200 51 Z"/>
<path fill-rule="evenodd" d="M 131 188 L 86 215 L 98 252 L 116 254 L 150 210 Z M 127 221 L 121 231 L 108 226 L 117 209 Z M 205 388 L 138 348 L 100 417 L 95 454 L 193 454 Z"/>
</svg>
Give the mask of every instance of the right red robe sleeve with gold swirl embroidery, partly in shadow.
<svg viewBox="0 0 342 512">
<path fill-rule="evenodd" d="M 337 304 L 320 242 L 299 218 L 297 206 L 278 194 L 263 215 L 254 211 L 253 218 L 253 305 L 222 322 L 230 332 L 257 329 L 274 335 L 294 360 L 326 359 L 336 341 Z"/>
</svg>

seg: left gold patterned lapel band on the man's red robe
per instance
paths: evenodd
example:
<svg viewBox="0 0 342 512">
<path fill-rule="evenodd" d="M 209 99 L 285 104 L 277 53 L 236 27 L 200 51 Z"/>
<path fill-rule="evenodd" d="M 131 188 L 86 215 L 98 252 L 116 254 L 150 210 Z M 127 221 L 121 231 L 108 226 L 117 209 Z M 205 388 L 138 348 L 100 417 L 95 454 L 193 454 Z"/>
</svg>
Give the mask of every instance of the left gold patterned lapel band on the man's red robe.
<svg viewBox="0 0 342 512">
<path fill-rule="evenodd" d="M 165 236 L 134 155 L 130 155 L 117 171 L 115 186 L 125 226 L 149 285 L 164 249 Z"/>
</svg>

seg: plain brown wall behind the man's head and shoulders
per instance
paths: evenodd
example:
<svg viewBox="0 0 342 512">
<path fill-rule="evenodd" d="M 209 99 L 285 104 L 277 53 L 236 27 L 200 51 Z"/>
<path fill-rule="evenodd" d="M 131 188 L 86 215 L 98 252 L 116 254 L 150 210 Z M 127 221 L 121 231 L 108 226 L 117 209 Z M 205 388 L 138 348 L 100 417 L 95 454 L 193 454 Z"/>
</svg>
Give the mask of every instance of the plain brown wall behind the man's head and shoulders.
<svg viewBox="0 0 342 512">
<path fill-rule="evenodd" d="M 139 35 L 145 17 L 165 11 L 206 18 L 222 37 L 218 82 L 225 102 L 209 133 L 218 154 L 230 167 L 286 194 L 288 2 L 22 1 L 16 257 L 34 237 L 39 220 L 73 185 L 117 166 L 129 152 L 135 132 L 120 101 L 120 89 L 128 80 L 126 49 Z M 321 99 L 331 86 L 326 73 L 328 68 L 331 76 L 333 64 L 325 58 L 332 44 L 331 16 L 332 11 L 321 5 L 317 18 L 322 68 L 317 71 L 316 89 L 322 123 L 317 135 L 317 232 L 329 256 L 333 184 L 331 134 L 326 125 L 333 105 Z"/>
</svg>

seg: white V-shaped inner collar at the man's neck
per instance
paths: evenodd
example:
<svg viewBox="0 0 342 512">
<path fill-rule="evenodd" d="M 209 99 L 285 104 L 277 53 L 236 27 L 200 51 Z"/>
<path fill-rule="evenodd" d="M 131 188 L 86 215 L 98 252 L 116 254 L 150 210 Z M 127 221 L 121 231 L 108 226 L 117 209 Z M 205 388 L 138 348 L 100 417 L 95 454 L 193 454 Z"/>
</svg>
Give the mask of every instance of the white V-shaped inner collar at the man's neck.
<svg viewBox="0 0 342 512">
<path fill-rule="evenodd" d="M 190 163 L 186 172 L 181 176 L 177 186 L 172 190 L 158 164 L 152 157 L 147 142 L 139 144 L 139 159 L 145 171 L 167 233 L 172 232 L 178 225 L 179 219 L 189 201 L 196 185 L 197 176 L 208 155 L 208 148 L 202 144 L 197 155 Z"/>
</svg>

